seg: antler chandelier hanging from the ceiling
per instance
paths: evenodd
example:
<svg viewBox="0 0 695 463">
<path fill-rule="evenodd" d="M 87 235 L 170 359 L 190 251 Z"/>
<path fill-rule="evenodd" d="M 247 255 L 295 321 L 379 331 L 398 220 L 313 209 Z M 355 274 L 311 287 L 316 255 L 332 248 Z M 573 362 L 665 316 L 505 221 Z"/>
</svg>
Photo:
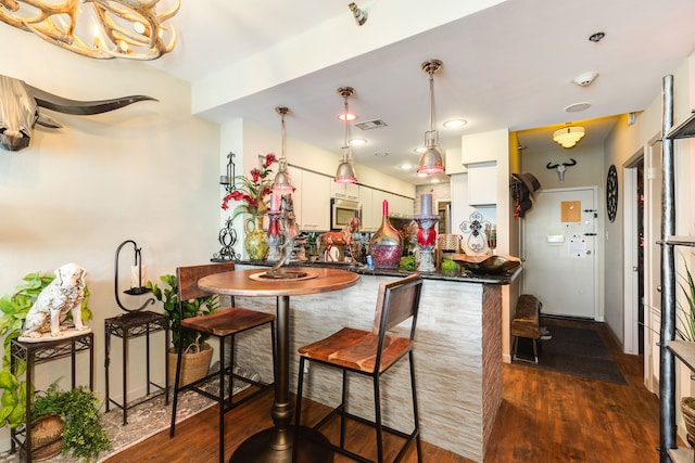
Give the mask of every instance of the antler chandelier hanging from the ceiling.
<svg viewBox="0 0 695 463">
<path fill-rule="evenodd" d="M 157 13 L 162 2 L 168 10 Z M 180 0 L 0 0 L 0 21 L 88 57 L 156 60 L 176 44 Z"/>
</svg>

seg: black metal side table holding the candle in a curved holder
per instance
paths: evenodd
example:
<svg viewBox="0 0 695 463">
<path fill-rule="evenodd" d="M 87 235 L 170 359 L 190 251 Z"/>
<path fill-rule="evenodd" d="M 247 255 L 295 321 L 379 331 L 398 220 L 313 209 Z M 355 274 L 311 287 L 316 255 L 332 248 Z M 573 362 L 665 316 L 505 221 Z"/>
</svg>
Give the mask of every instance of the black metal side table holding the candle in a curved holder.
<svg viewBox="0 0 695 463">
<path fill-rule="evenodd" d="M 165 313 L 155 313 L 149 310 L 127 312 L 123 316 L 113 317 L 104 320 L 104 327 L 106 334 L 106 359 L 104 366 L 106 369 L 106 412 L 110 404 L 118 407 L 123 410 L 123 424 L 128 424 L 128 409 L 138 406 L 142 402 L 151 400 L 162 394 L 166 395 L 165 404 L 169 403 L 169 368 L 166 361 L 166 351 L 169 345 L 169 320 Z M 164 386 L 153 383 L 150 380 L 150 334 L 160 331 L 165 332 L 164 340 Z M 123 339 L 123 403 L 116 402 L 109 395 L 109 366 L 110 366 L 110 352 L 111 352 L 111 335 L 117 336 Z M 128 403 L 128 340 L 134 337 L 146 336 L 146 361 L 147 361 L 147 395 Z M 150 386 L 156 387 L 155 394 L 151 393 Z"/>
</svg>

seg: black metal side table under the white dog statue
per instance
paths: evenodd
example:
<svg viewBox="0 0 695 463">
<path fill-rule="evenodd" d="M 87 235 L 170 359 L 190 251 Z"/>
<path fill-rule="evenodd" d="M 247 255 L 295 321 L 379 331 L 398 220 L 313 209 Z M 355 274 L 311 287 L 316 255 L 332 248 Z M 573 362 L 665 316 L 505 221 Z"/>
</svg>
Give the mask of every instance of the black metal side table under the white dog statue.
<svg viewBox="0 0 695 463">
<path fill-rule="evenodd" d="M 61 359 L 64 357 L 71 357 L 71 378 L 72 388 L 75 388 L 75 353 L 89 350 L 89 388 L 94 388 L 94 334 L 90 331 L 88 333 L 78 334 L 71 337 L 53 338 L 54 340 L 37 340 L 37 342 L 22 342 L 18 339 L 12 339 L 10 343 L 10 368 L 12 372 L 16 372 L 17 361 L 26 362 L 26 420 L 24 422 L 24 428 L 22 426 L 10 429 L 12 449 L 11 453 L 16 451 L 17 446 L 26 454 L 26 461 L 31 461 L 31 394 L 28 389 L 31 387 L 31 377 L 34 376 L 34 366 L 49 362 L 51 360 Z M 22 439 L 24 435 L 24 439 Z"/>
</svg>

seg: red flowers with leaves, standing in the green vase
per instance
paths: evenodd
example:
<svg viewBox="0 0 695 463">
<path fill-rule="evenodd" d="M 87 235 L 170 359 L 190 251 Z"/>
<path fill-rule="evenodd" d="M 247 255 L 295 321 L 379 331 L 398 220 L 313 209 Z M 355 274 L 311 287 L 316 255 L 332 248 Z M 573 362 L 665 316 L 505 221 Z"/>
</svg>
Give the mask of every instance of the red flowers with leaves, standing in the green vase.
<svg viewBox="0 0 695 463">
<path fill-rule="evenodd" d="M 273 179 L 268 179 L 268 176 L 273 172 L 270 165 L 276 160 L 275 154 L 268 153 L 265 155 L 261 169 L 251 169 L 251 178 L 244 176 L 235 177 L 235 183 L 240 183 L 240 187 L 223 198 L 222 208 L 229 209 L 229 202 L 232 200 L 241 201 L 245 204 L 237 206 L 231 216 L 232 219 L 241 214 L 250 214 L 253 218 L 257 218 L 267 213 L 268 206 L 265 197 L 273 192 Z"/>
</svg>

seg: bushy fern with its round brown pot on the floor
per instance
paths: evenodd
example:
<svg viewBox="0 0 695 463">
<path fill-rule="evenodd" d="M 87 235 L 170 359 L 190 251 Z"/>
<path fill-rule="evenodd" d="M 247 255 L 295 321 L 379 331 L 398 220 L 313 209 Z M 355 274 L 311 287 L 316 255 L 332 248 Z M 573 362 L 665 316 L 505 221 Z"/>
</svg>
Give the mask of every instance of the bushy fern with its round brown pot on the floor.
<svg viewBox="0 0 695 463">
<path fill-rule="evenodd" d="M 62 447 L 63 455 L 71 454 L 76 460 L 87 462 L 96 460 L 100 451 L 111 449 L 99 404 L 99 398 L 87 386 L 62 390 L 58 381 L 51 383 L 46 390 L 36 394 L 31 404 L 31 446 L 40 445 L 41 448 L 37 450 L 48 452 L 43 458 L 51 456 L 50 453 L 58 454 Z M 45 424 L 61 422 L 62 425 Z M 47 434 L 41 434 L 39 429 L 47 430 Z"/>
</svg>

